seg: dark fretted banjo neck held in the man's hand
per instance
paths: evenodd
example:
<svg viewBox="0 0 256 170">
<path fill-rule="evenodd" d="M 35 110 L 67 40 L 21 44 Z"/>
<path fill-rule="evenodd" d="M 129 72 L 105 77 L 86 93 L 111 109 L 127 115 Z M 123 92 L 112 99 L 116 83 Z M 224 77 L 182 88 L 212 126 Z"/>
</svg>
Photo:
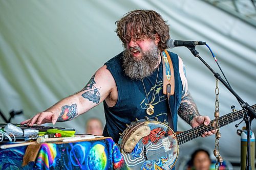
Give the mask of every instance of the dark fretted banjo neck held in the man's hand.
<svg viewBox="0 0 256 170">
<path fill-rule="evenodd" d="M 255 111 L 256 109 L 256 104 L 255 105 L 252 105 L 251 108 Z M 239 111 L 236 111 L 236 112 L 231 112 L 231 113 L 228 113 L 224 116 L 221 116 L 219 117 L 218 119 L 218 123 L 219 123 L 219 127 L 223 127 L 223 126 L 226 126 L 228 124 L 231 124 L 241 118 L 243 118 L 245 115 L 245 112 L 244 110 L 239 110 Z M 181 132 L 179 134 L 177 134 L 177 140 L 178 140 L 178 143 L 179 145 L 187 142 L 187 141 L 190 141 L 190 140 L 193 140 L 197 137 L 200 137 L 202 136 L 202 134 L 204 132 L 208 132 L 208 131 L 211 131 L 214 129 L 214 127 L 212 127 L 212 123 L 214 123 L 215 120 L 211 120 L 210 124 L 205 126 L 205 125 L 200 125 L 198 127 L 195 127 L 195 128 L 192 128 L 192 129 L 189 129 L 187 131 L 184 131 L 184 132 Z"/>
</svg>

